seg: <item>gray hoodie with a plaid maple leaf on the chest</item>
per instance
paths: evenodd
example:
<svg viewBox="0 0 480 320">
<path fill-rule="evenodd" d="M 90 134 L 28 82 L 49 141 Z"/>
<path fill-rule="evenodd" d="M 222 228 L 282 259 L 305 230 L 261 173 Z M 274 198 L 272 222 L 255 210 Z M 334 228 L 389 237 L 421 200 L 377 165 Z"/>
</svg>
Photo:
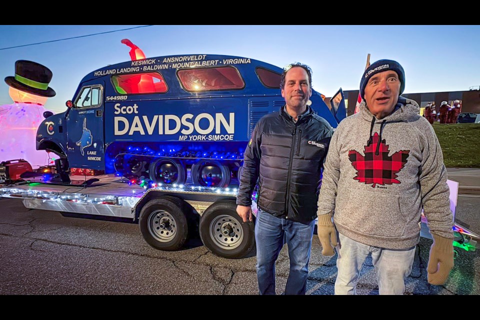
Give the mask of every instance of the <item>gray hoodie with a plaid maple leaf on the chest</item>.
<svg viewBox="0 0 480 320">
<path fill-rule="evenodd" d="M 364 244 L 402 249 L 418 243 L 423 206 L 430 232 L 453 238 L 440 144 L 418 104 L 400 96 L 376 119 L 365 102 L 331 138 L 317 214 L 334 210 L 338 232 Z"/>
</svg>

